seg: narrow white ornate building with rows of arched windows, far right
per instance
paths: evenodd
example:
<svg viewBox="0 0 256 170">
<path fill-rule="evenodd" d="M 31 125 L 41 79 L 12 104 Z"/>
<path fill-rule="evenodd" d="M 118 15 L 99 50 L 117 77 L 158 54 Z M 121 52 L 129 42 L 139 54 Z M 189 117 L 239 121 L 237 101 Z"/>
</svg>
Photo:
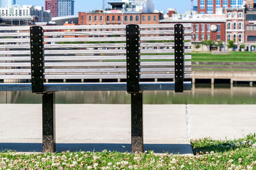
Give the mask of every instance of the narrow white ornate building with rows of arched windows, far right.
<svg viewBox="0 0 256 170">
<path fill-rule="evenodd" d="M 236 47 L 233 50 L 243 50 L 244 44 L 244 8 L 226 8 L 226 43 L 234 41 Z"/>
</svg>

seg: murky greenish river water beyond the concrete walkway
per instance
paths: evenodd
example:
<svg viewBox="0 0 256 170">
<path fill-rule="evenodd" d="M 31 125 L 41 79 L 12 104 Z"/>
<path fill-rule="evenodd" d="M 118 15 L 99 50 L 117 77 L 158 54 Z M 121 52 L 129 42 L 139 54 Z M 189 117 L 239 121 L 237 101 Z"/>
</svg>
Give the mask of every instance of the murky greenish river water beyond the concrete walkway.
<svg viewBox="0 0 256 170">
<path fill-rule="evenodd" d="M 127 92 L 56 92 L 57 104 L 129 104 Z M 0 92 L 0 103 L 39 104 L 42 95 Z M 191 91 L 143 92 L 144 104 L 256 104 L 256 87 L 196 84 Z"/>
</svg>

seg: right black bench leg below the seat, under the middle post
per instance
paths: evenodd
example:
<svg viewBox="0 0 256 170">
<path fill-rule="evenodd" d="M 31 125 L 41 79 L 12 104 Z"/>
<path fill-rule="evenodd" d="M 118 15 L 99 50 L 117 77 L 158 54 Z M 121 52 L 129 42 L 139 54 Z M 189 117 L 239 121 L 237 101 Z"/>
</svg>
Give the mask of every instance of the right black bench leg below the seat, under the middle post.
<svg viewBox="0 0 256 170">
<path fill-rule="evenodd" d="M 131 94 L 132 153 L 143 152 L 143 96 Z"/>
</svg>

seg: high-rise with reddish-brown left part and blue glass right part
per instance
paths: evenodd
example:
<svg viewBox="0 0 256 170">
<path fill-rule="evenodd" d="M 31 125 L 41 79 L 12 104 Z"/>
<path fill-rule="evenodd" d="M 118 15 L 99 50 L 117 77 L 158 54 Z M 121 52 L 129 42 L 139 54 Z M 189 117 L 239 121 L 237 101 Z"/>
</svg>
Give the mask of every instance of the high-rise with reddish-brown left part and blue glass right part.
<svg viewBox="0 0 256 170">
<path fill-rule="evenodd" d="M 51 10 L 52 17 L 74 15 L 74 0 L 45 0 L 45 10 Z"/>
</svg>

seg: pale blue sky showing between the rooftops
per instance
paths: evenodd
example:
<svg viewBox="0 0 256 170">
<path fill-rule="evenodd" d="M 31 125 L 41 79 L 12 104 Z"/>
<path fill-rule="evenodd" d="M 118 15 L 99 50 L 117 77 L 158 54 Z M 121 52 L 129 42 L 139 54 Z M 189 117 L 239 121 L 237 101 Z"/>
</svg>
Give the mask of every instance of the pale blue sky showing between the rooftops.
<svg viewBox="0 0 256 170">
<path fill-rule="evenodd" d="M 111 1 L 111 0 L 109 0 Z M 190 10 L 190 0 L 153 0 L 156 10 L 166 11 L 167 8 L 175 8 L 179 13 Z M 194 4 L 197 0 L 194 0 Z M 44 0 L 16 0 L 16 4 L 31 4 L 44 6 Z M 99 10 L 102 8 L 102 0 L 75 0 L 75 15 L 79 11 Z"/>
</svg>

